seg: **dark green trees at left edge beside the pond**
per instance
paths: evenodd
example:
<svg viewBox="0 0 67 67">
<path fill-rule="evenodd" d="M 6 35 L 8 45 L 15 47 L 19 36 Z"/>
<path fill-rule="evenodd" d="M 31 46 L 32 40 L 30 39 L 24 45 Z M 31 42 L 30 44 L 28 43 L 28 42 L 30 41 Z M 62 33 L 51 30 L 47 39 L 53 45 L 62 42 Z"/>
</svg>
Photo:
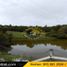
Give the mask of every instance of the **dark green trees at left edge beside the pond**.
<svg viewBox="0 0 67 67">
<path fill-rule="evenodd" d="M 0 30 L 0 49 L 7 49 L 12 44 L 12 34 Z"/>
</svg>

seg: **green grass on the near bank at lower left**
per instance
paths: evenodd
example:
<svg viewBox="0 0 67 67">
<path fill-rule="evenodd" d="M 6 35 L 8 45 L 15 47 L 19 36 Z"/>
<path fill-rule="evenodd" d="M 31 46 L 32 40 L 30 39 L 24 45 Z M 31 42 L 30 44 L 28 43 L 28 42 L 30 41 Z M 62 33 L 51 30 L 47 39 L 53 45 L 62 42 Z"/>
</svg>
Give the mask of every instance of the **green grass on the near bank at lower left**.
<svg viewBox="0 0 67 67">
<path fill-rule="evenodd" d="M 32 56 L 27 57 L 27 56 L 22 56 L 22 55 L 11 55 L 6 52 L 0 52 L 0 58 L 3 58 L 5 61 L 15 61 L 16 59 L 19 58 L 25 58 L 27 60 L 32 60 L 34 59 Z"/>
</svg>

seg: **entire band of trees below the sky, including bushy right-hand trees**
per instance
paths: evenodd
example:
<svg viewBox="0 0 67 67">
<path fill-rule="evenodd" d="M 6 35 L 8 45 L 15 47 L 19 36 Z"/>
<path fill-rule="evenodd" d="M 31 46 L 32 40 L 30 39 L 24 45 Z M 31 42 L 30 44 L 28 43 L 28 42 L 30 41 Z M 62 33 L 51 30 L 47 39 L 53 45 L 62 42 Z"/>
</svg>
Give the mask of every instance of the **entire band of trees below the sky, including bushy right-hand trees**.
<svg viewBox="0 0 67 67">
<path fill-rule="evenodd" d="M 56 25 L 56 26 L 12 26 L 12 25 L 0 25 L 0 32 L 5 34 L 7 31 L 25 32 L 27 29 L 37 28 L 46 33 L 48 37 L 55 37 L 59 39 L 67 39 L 67 25 Z M 7 36 L 7 35 L 6 35 Z M 11 35 L 10 35 L 11 36 Z"/>
</svg>

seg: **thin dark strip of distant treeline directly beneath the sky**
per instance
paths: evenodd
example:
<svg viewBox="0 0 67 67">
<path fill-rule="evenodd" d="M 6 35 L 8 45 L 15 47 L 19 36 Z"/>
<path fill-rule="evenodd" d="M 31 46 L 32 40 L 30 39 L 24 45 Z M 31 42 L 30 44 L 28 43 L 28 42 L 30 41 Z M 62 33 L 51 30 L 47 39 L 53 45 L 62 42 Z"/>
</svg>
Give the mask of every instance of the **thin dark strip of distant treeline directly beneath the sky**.
<svg viewBox="0 0 67 67">
<path fill-rule="evenodd" d="M 39 28 L 43 30 L 44 32 L 51 32 L 51 31 L 58 31 L 60 28 L 63 27 L 66 29 L 67 25 L 56 25 L 56 26 L 12 26 L 12 25 L 0 25 L 0 31 L 17 31 L 17 32 L 24 32 L 28 28 Z"/>
</svg>

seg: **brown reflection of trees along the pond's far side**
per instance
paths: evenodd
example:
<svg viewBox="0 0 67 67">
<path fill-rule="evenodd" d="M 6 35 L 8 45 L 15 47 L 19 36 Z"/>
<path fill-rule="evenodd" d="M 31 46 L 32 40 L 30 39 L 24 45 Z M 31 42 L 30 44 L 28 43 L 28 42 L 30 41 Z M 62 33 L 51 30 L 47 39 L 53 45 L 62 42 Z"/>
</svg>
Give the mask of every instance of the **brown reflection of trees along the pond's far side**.
<svg viewBox="0 0 67 67">
<path fill-rule="evenodd" d="M 35 45 L 40 45 L 40 44 L 44 44 L 44 45 L 47 45 L 47 44 L 51 44 L 51 45 L 57 45 L 57 46 L 61 46 L 62 48 L 64 49 L 67 49 L 67 40 L 63 39 L 63 40 L 60 40 L 60 39 L 44 39 L 44 40 L 17 40 L 15 41 L 14 43 L 15 45 L 16 44 L 20 44 L 20 45 L 27 45 L 28 47 L 32 48 L 34 47 Z"/>
</svg>

